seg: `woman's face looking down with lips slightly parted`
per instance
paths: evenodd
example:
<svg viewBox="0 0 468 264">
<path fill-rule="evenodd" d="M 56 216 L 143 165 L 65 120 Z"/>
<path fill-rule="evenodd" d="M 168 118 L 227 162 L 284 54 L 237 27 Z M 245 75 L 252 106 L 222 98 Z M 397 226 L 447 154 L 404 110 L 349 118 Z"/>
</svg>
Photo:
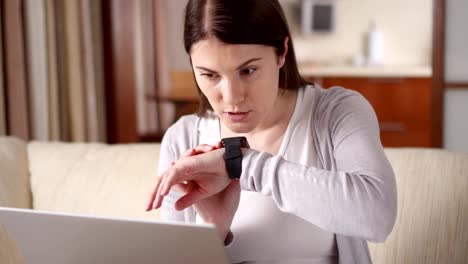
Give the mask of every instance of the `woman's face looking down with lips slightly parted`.
<svg viewBox="0 0 468 264">
<path fill-rule="evenodd" d="M 251 132 L 281 111 L 275 102 L 284 56 L 273 47 L 208 38 L 195 43 L 190 56 L 198 86 L 232 132 Z"/>
</svg>

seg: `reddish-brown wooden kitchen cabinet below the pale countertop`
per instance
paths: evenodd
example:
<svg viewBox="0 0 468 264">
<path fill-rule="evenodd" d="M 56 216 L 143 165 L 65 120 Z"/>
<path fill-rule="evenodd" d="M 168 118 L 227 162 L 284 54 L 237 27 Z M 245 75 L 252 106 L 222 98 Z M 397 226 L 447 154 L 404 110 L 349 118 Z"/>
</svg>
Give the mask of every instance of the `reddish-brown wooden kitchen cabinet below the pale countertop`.
<svg viewBox="0 0 468 264">
<path fill-rule="evenodd" d="M 385 147 L 432 146 L 431 78 L 309 78 L 325 88 L 343 86 L 360 92 L 373 106 Z"/>
</svg>

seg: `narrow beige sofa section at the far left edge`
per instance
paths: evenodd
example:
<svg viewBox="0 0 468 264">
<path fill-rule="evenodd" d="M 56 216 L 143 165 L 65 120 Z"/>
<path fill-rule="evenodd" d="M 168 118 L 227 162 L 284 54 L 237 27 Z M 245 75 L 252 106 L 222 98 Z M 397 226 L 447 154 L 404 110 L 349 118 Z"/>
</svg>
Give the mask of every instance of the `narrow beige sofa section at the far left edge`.
<svg viewBox="0 0 468 264">
<path fill-rule="evenodd" d="M 0 137 L 0 206 L 31 207 L 26 143 Z"/>
</svg>

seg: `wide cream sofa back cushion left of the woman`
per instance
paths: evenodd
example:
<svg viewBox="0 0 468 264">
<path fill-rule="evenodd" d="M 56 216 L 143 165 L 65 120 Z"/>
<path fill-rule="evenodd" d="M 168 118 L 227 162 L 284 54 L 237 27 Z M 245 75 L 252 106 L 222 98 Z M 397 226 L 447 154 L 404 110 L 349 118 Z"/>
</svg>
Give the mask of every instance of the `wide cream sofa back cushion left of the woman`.
<svg viewBox="0 0 468 264">
<path fill-rule="evenodd" d="M 157 175 L 158 144 L 28 145 L 35 209 L 155 219 L 144 211 Z"/>
</svg>

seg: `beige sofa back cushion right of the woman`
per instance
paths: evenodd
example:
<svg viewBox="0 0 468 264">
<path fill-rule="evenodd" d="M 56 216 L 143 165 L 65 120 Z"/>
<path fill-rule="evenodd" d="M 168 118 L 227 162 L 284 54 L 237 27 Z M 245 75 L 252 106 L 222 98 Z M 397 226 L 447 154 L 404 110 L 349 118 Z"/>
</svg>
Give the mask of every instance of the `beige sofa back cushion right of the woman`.
<svg viewBox="0 0 468 264">
<path fill-rule="evenodd" d="M 468 263 L 468 154 L 386 149 L 397 179 L 398 217 L 374 263 Z"/>
</svg>

